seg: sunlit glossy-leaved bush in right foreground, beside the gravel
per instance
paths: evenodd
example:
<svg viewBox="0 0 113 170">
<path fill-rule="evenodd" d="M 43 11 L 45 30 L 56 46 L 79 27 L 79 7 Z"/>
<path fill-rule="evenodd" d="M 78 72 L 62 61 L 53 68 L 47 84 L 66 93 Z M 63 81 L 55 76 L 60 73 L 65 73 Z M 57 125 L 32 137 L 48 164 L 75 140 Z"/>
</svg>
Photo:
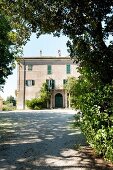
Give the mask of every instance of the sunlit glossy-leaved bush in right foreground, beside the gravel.
<svg viewBox="0 0 113 170">
<path fill-rule="evenodd" d="M 113 87 L 89 92 L 83 104 L 82 130 L 88 142 L 98 155 L 113 162 Z"/>
</svg>

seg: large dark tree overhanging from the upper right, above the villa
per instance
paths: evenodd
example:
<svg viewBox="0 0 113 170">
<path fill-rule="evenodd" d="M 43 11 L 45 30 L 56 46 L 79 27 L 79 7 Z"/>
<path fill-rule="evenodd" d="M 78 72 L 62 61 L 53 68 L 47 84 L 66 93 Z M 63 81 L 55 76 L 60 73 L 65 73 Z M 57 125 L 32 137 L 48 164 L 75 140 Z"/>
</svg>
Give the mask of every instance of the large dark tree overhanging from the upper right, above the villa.
<svg viewBox="0 0 113 170">
<path fill-rule="evenodd" d="M 13 15 L 19 13 L 37 36 L 60 33 L 68 36 L 71 57 L 102 83 L 112 83 L 113 44 L 106 41 L 113 30 L 111 0 L 9 1 Z M 95 79 L 94 79 L 95 81 Z"/>
</svg>

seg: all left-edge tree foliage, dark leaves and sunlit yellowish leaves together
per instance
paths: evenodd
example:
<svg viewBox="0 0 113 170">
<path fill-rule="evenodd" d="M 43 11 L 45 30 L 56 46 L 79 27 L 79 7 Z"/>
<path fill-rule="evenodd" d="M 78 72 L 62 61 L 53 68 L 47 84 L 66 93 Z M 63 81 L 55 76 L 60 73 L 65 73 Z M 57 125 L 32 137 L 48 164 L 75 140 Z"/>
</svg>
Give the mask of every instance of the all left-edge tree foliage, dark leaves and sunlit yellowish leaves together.
<svg viewBox="0 0 113 170">
<path fill-rule="evenodd" d="M 18 22 L 15 19 L 17 17 L 12 16 L 8 3 L 0 1 L 0 90 L 3 90 L 6 78 L 12 74 L 15 59 L 30 36 L 22 19 L 18 19 Z"/>
</svg>

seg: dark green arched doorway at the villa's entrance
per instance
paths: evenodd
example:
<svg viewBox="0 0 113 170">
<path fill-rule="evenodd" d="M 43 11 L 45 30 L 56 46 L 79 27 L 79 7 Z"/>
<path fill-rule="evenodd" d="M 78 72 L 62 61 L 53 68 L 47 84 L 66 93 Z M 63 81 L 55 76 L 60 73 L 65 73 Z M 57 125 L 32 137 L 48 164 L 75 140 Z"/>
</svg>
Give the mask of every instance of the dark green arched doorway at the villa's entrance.
<svg viewBox="0 0 113 170">
<path fill-rule="evenodd" d="M 63 108 L 63 96 L 61 93 L 57 93 L 55 95 L 55 107 L 56 108 Z"/>
</svg>

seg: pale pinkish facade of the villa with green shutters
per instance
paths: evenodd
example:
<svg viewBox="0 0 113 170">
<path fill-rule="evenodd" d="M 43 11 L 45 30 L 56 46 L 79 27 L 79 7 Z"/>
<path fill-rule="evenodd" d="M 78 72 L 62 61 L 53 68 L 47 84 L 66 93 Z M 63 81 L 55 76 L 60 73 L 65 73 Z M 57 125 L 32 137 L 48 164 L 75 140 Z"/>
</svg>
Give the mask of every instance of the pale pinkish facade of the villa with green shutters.
<svg viewBox="0 0 113 170">
<path fill-rule="evenodd" d="M 78 77 L 77 65 L 70 57 L 25 57 L 18 64 L 17 109 L 25 109 L 25 101 L 38 97 L 42 84 L 54 82 L 50 108 L 69 107 L 64 82 Z"/>
</svg>

